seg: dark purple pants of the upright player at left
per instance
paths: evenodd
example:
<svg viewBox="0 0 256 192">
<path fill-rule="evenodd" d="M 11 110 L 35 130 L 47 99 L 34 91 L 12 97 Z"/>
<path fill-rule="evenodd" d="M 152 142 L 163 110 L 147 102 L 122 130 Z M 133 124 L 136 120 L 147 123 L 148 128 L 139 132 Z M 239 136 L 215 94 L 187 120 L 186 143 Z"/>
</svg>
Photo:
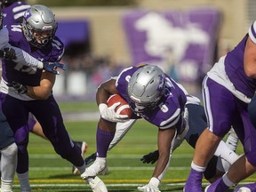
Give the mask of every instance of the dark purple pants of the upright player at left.
<svg viewBox="0 0 256 192">
<path fill-rule="evenodd" d="M 17 100 L 0 93 L 3 113 L 14 132 L 18 150 L 17 172 L 28 172 L 28 113 L 31 112 L 41 124 L 45 136 L 57 154 L 75 166 L 82 166 L 81 149 L 74 143 L 63 124 L 60 108 L 50 96 L 47 100 Z"/>
</svg>

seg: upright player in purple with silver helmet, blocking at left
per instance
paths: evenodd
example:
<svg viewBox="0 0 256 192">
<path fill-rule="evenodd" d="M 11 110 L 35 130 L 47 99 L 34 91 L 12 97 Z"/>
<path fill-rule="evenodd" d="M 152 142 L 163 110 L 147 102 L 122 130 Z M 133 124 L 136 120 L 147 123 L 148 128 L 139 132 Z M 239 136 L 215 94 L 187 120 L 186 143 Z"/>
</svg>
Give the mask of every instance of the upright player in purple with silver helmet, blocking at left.
<svg viewBox="0 0 256 192">
<path fill-rule="evenodd" d="M 57 22 L 48 7 L 42 4 L 32 5 L 25 12 L 21 25 L 7 28 L 10 31 L 10 43 L 26 50 L 32 56 L 47 62 L 57 62 L 61 59 L 64 46 L 55 36 Z M 70 139 L 60 108 L 52 95 L 55 77 L 55 74 L 43 69 L 29 68 L 12 60 L 3 60 L 0 104 L 6 117 L 5 122 L 10 125 L 18 146 L 17 175 L 22 192 L 31 190 L 27 150 L 29 112 L 36 116 L 57 154 L 76 165 L 79 172 L 84 172 L 86 167 L 80 148 Z M 107 191 L 99 178 L 90 178 L 87 181 L 93 191 L 98 190 L 100 183 L 103 187 L 100 191 Z"/>
</svg>

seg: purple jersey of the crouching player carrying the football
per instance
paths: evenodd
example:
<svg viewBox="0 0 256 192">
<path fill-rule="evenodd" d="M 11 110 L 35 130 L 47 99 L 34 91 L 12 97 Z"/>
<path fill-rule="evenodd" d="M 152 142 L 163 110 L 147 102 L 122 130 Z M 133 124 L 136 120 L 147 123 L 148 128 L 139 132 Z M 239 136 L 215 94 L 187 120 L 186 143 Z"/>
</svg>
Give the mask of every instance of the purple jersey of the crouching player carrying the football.
<svg viewBox="0 0 256 192">
<path fill-rule="evenodd" d="M 134 108 L 132 100 L 129 99 L 127 86 L 132 74 L 138 70 L 139 67 L 125 68 L 116 79 L 116 89 L 129 105 Z M 155 124 L 160 129 L 167 129 L 175 125 L 178 132 L 182 125 L 182 115 L 185 104 L 187 102 L 186 94 L 183 92 L 180 85 L 175 83 L 171 77 L 165 77 L 166 87 L 164 96 L 154 109 L 148 109 L 139 116 L 147 120 L 151 124 Z"/>
</svg>

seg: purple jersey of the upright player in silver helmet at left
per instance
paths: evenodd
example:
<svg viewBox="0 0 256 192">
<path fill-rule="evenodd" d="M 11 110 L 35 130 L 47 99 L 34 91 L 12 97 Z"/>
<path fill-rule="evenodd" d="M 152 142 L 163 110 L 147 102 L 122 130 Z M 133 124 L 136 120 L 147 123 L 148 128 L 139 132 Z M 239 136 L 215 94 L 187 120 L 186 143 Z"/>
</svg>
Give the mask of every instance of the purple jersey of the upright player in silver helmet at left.
<svg viewBox="0 0 256 192">
<path fill-rule="evenodd" d="M 54 37 L 52 44 L 49 44 L 44 49 L 31 47 L 25 36 L 23 36 L 20 25 L 8 26 L 9 29 L 9 43 L 13 46 L 19 47 L 37 60 L 46 61 L 60 61 L 64 52 L 64 44 L 58 37 Z M 3 78 L 5 82 L 12 83 L 12 81 L 20 84 L 27 84 L 29 86 L 38 86 L 42 69 L 29 68 L 22 64 L 17 64 L 12 60 L 3 60 Z"/>
</svg>

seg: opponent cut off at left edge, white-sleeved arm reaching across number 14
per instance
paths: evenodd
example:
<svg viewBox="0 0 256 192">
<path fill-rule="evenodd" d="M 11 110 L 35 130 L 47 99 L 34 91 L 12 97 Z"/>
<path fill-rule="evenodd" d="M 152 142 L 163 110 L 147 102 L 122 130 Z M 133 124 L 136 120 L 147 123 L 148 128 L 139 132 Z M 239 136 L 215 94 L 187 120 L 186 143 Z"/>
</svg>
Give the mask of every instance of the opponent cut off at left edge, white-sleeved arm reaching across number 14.
<svg viewBox="0 0 256 192">
<path fill-rule="evenodd" d="M 36 60 L 27 52 L 20 50 L 20 48 L 13 47 L 9 44 L 8 30 L 3 26 L 3 12 L 0 6 L 0 57 L 4 60 L 14 60 L 33 68 L 44 68 L 52 73 L 57 73 L 56 68 L 64 68 L 60 63 L 50 63 L 47 61 Z M 1 111 L 1 113 L 3 113 Z M 1 151 L 1 190 L 12 191 L 12 182 L 17 166 L 17 146 L 14 142 L 13 132 L 6 123 L 5 116 L 1 115 L 1 129 L 0 129 L 0 151 Z"/>
</svg>

